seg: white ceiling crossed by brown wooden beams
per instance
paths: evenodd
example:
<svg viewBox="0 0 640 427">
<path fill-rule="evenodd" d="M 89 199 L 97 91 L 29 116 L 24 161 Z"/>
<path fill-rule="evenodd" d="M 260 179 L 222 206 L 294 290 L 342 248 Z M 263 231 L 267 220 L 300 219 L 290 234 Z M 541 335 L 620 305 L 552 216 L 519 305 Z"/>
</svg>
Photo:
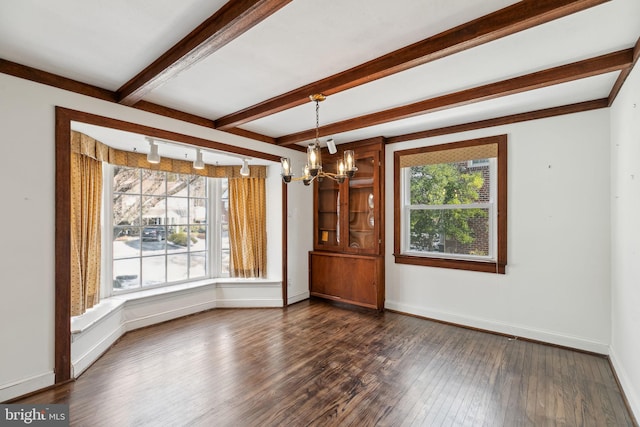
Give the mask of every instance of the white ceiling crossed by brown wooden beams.
<svg viewBox="0 0 640 427">
<path fill-rule="evenodd" d="M 0 72 L 270 144 L 605 108 L 640 0 L 4 0 Z"/>
</svg>

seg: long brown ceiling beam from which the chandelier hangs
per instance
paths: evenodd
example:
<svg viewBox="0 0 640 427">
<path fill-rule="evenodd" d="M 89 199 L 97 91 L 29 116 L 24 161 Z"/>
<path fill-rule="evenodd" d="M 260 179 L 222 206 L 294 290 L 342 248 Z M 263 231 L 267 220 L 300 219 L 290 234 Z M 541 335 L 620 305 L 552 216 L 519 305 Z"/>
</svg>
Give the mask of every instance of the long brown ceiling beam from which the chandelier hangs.
<svg viewBox="0 0 640 427">
<path fill-rule="evenodd" d="M 225 130 L 461 52 L 610 0 L 523 0 L 349 70 L 278 95 L 215 121 Z"/>
</svg>

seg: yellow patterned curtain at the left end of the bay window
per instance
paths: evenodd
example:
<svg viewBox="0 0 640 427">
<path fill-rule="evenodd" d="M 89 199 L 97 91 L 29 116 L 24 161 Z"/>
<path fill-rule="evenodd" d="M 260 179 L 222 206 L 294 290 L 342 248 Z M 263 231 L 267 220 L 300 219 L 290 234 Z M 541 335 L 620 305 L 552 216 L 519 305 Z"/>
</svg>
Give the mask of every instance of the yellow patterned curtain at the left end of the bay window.
<svg viewBox="0 0 640 427">
<path fill-rule="evenodd" d="M 71 315 L 100 301 L 102 162 L 71 153 Z"/>
</svg>

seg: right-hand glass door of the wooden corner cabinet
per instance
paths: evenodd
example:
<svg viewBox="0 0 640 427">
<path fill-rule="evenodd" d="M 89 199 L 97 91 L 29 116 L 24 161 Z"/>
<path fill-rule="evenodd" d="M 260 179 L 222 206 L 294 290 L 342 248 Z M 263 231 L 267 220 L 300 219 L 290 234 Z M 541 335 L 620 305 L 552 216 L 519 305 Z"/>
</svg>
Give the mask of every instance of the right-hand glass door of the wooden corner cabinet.
<svg viewBox="0 0 640 427">
<path fill-rule="evenodd" d="M 377 182 L 378 153 L 356 154 L 355 176 L 349 179 L 349 252 L 377 253 L 379 209 Z"/>
</svg>

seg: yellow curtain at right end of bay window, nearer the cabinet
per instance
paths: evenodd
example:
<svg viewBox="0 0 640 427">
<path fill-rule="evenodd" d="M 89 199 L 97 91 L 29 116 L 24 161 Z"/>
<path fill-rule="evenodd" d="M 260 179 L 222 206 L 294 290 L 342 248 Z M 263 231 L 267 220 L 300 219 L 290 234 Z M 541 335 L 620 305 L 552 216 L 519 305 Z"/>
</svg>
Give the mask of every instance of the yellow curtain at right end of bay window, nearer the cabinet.
<svg viewBox="0 0 640 427">
<path fill-rule="evenodd" d="M 232 277 L 266 277 L 264 178 L 229 178 L 229 246 Z"/>
</svg>

